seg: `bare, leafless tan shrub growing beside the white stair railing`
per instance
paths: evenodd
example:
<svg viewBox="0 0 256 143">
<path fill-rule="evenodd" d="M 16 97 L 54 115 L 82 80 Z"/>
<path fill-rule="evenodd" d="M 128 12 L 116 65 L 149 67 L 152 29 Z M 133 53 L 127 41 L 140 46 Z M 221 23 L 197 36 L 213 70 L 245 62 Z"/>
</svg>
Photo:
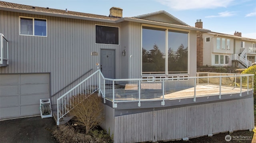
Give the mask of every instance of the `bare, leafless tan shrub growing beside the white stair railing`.
<svg viewBox="0 0 256 143">
<path fill-rule="evenodd" d="M 78 94 L 70 99 L 71 107 L 70 114 L 74 116 L 74 121 L 78 125 L 86 127 L 86 135 L 91 129 L 100 125 L 104 120 L 102 98 L 98 94 L 92 94 L 84 99 L 84 94 Z M 84 100 L 82 100 L 84 99 Z"/>
</svg>

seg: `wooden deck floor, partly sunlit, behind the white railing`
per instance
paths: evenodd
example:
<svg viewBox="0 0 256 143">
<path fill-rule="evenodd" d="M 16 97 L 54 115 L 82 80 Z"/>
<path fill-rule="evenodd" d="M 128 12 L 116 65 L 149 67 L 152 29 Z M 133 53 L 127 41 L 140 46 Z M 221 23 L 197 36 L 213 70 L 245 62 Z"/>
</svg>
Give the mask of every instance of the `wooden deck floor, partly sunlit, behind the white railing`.
<svg viewBox="0 0 256 143">
<path fill-rule="evenodd" d="M 249 89 L 251 90 L 251 89 Z M 109 91 L 109 92 L 108 92 Z M 235 94 L 240 93 L 240 87 L 221 86 L 221 94 Z M 242 92 L 247 92 L 247 88 L 242 88 Z M 164 99 L 178 99 L 178 98 L 193 98 L 194 87 L 191 88 L 174 88 L 166 89 L 164 91 Z M 196 86 L 196 97 L 199 96 L 218 96 L 220 95 L 220 86 L 214 84 L 199 84 Z M 113 100 L 113 92 L 111 90 L 106 91 L 106 98 Z M 141 89 L 141 100 L 161 100 L 163 98 L 162 89 Z M 116 88 L 115 89 L 115 101 L 128 101 L 139 100 L 138 87 Z"/>
</svg>

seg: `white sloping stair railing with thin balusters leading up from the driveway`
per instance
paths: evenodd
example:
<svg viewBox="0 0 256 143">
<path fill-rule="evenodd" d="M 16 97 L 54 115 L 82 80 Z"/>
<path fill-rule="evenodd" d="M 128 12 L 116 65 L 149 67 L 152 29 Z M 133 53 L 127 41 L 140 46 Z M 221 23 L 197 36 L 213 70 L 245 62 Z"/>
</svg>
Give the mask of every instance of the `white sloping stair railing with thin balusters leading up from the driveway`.
<svg viewBox="0 0 256 143">
<path fill-rule="evenodd" d="M 74 96 L 79 95 L 81 99 L 77 98 L 79 101 L 75 101 L 76 103 L 80 103 L 90 95 L 98 91 L 98 94 L 102 94 L 101 83 L 103 81 L 103 75 L 100 70 L 94 72 L 82 82 L 74 86 L 68 92 L 63 94 L 61 97 L 57 99 L 57 125 L 60 124 L 60 119 L 63 118 L 66 114 L 68 114 L 74 106 L 71 103 Z M 102 94 L 103 95 L 103 94 Z M 104 95 L 103 95 L 104 96 Z"/>
</svg>

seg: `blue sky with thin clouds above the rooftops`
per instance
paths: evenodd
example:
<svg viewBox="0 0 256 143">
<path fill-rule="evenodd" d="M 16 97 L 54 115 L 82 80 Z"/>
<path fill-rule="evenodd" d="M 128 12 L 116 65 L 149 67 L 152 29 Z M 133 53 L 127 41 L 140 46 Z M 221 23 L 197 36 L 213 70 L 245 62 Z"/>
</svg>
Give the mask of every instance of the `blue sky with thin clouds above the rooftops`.
<svg viewBox="0 0 256 143">
<path fill-rule="evenodd" d="M 256 39 L 256 0 L 2 0 L 17 4 L 49 7 L 89 14 L 109 15 L 111 7 L 123 9 L 123 17 L 164 10 L 182 22 L 213 32 Z"/>
</svg>

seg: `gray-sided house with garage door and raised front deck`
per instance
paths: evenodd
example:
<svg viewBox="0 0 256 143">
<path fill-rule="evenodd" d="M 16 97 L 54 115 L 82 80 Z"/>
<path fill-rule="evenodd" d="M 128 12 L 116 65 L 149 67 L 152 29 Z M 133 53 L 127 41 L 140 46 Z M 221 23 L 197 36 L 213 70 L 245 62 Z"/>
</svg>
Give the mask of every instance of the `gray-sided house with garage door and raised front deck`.
<svg viewBox="0 0 256 143">
<path fill-rule="evenodd" d="M 0 119 L 50 98 L 59 125 L 70 97 L 98 92 L 114 142 L 254 128 L 253 75 L 196 72 L 197 32 L 210 30 L 165 11 L 107 15 L 0 2 Z"/>
</svg>

